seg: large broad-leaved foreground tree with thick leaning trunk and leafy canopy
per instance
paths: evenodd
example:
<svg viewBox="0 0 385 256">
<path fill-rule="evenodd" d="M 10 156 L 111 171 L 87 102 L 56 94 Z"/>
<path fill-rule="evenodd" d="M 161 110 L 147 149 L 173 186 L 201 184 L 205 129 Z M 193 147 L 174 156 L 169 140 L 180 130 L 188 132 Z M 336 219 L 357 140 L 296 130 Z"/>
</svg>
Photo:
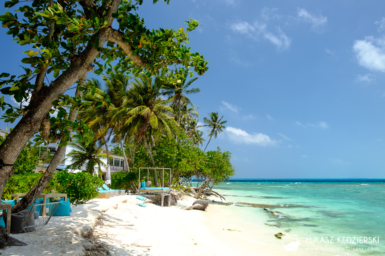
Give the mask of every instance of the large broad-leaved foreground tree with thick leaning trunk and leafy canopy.
<svg viewBox="0 0 385 256">
<path fill-rule="evenodd" d="M 158 0 L 153 0 L 156 2 Z M 2 111 L 7 109 L 3 112 L 5 122 L 21 117 L 0 145 L 0 175 L 4 177 L 0 181 L 0 193 L 13 174 L 12 166 L 18 155 L 33 135 L 35 145 L 60 140 L 62 147 L 71 140 L 72 131 L 77 133 L 74 137 L 88 143 L 92 141 L 93 133 L 87 132 L 88 125 L 72 120 L 70 114 L 84 107 L 81 95 L 66 94 L 77 81 L 78 91 L 94 93 L 95 88 L 81 86 L 84 74 L 91 71 L 110 74 L 120 69 L 132 76 L 160 75 L 169 83 L 176 83 L 184 78 L 187 68 L 193 68 L 198 75 L 208 69 L 203 55 L 190 52 L 191 48 L 186 46 L 187 32 L 194 30 L 198 21 L 185 21 L 187 27 L 176 30 L 148 29 L 144 18 L 136 13 L 143 0 L 33 0 L 24 3 L 7 1 L 5 7 L 17 5 L 17 13 L 0 15 L 7 34 L 18 45 L 29 47 L 24 51 L 21 76 L 0 74 L 3 94 L 13 96 L 17 102 L 29 102 L 13 107 L 4 97 L 0 98 Z M 172 69 L 172 66 L 177 68 Z M 52 80 L 45 81 L 51 73 Z M 55 160 L 52 164 L 58 163 Z"/>
</svg>

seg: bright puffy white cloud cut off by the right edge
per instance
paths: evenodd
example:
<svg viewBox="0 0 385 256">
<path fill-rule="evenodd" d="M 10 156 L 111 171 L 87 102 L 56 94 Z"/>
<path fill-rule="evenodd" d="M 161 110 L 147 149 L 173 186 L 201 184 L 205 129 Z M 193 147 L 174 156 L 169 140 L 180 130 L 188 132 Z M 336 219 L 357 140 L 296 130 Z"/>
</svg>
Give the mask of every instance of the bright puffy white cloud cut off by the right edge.
<svg viewBox="0 0 385 256">
<path fill-rule="evenodd" d="M 353 50 L 361 66 L 385 72 L 385 37 L 366 36 L 364 40 L 356 40 Z"/>
</svg>

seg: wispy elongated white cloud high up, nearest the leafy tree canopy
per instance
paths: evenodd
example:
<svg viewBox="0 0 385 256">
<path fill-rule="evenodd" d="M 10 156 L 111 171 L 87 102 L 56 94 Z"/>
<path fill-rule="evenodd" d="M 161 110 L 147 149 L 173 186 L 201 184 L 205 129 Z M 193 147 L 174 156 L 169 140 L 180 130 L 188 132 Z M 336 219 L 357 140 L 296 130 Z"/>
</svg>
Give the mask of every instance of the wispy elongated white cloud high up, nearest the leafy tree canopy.
<svg viewBox="0 0 385 256">
<path fill-rule="evenodd" d="M 255 21 L 253 25 L 247 21 L 237 21 L 230 25 L 230 28 L 237 33 L 246 35 L 254 40 L 263 38 L 275 45 L 278 50 L 286 50 L 291 44 L 291 38 L 283 32 L 280 26 L 275 27 L 275 33 L 272 33 L 267 29 L 267 24 Z"/>
</svg>

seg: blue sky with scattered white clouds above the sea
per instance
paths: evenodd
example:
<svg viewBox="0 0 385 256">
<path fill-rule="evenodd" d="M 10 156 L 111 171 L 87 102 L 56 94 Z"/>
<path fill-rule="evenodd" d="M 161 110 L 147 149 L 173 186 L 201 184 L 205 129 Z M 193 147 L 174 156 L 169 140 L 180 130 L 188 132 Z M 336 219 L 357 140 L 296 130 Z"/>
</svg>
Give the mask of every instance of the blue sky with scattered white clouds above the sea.
<svg viewBox="0 0 385 256">
<path fill-rule="evenodd" d="M 151 3 L 149 29 L 201 25 L 189 46 L 209 69 L 190 99 L 200 123 L 227 120 L 208 150 L 230 151 L 236 178 L 385 178 L 385 2 Z M 5 32 L 1 72 L 18 74 L 25 49 Z"/>
</svg>

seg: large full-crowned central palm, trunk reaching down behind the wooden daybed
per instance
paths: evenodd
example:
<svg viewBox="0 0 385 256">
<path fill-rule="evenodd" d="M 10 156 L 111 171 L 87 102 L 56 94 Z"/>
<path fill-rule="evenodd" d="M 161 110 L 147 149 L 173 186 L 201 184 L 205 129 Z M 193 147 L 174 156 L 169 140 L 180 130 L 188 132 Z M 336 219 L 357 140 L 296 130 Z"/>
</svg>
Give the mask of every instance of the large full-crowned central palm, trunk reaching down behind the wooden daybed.
<svg viewBox="0 0 385 256">
<path fill-rule="evenodd" d="M 168 101 L 161 99 L 160 89 L 162 81 L 142 75 L 131 82 L 123 106 L 115 110 L 115 119 L 121 119 L 122 124 L 118 134 L 134 135 L 136 144 L 143 142 L 155 167 L 154 157 L 151 153 L 149 141 L 157 140 L 161 134 L 172 136 L 167 120 L 176 121 L 169 116 L 172 108 L 167 106 Z M 157 173 L 155 173 L 155 186 L 157 187 Z"/>
</svg>

